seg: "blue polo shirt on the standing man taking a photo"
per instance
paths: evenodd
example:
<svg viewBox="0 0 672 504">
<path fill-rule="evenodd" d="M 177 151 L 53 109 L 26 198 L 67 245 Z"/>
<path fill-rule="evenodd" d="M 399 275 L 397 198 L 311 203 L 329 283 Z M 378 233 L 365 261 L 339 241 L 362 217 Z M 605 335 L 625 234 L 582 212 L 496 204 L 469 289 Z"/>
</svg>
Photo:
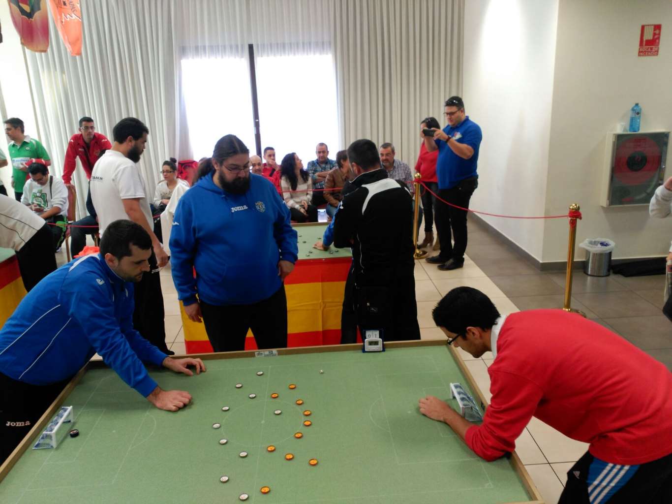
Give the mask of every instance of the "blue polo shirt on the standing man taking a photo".
<svg viewBox="0 0 672 504">
<path fill-rule="evenodd" d="M 469 159 L 464 159 L 450 149 L 443 140 L 436 140 L 439 147 L 439 157 L 436 161 L 436 175 L 439 179 L 439 189 L 450 189 L 455 187 L 464 179 L 478 177 L 476 173 L 476 164 L 478 163 L 478 148 L 483 135 L 480 132 L 480 126 L 470 120 L 469 116 L 464 118 L 458 126 L 446 126 L 444 132 L 452 136 L 454 140 L 461 144 L 467 144 L 474 149 L 474 155 Z"/>
</svg>

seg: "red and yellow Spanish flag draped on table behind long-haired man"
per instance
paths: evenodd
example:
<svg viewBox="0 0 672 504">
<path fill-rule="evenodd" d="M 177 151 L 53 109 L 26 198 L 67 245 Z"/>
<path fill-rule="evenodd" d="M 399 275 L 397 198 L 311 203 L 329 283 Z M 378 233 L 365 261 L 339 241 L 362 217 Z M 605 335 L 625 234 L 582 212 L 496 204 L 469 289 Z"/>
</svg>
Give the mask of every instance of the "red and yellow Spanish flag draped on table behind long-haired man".
<svg viewBox="0 0 672 504">
<path fill-rule="evenodd" d="M 336 345 L 341 342 L 341 307 L 351 257 L 300 259 L 285 279 L 287 346 Z M 208 353 L 212 345 L 203 324 L 192 322 L 180 302 L 187 353 Z M 249 331 L 245 349 L 256 349 Z"/>
</svg>

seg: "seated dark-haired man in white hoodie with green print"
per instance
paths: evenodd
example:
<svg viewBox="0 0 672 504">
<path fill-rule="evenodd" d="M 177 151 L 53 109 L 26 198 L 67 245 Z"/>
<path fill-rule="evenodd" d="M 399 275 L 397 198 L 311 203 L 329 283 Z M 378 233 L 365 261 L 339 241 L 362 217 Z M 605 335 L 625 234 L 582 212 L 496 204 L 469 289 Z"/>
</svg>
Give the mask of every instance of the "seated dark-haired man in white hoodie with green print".
<svg viewBox="0 0 672 504">
<path fill-rule="evenodd" d="M 42 161 L 40 159 L 40 161 Z M 49 169 L 41 162 L 28 165 L 30 177 L 24 184 L 21 202 L 42 217 L 54 239 L 54 251 L 65 239 L 68 215 L 68 190 L 61 179 L 49 175 Z"/>
</svg>

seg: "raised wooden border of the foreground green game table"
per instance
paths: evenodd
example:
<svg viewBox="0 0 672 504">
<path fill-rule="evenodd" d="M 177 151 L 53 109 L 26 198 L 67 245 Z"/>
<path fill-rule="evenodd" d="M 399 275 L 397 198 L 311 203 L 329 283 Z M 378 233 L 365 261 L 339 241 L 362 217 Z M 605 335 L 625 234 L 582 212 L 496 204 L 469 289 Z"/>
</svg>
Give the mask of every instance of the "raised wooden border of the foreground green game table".
<svg viewBox="0 0 672 504">
<path fill-rule="evenodd" d="M 446 345 L 446 341 L 443 339 L 420 339 L 420 340 L 415 339 L 410 341 L 390 341 L 388 343 L 385 343 L 385 347 L 388 349 L 411 348 L 411 347 L 435 347 L 442 345 Z M 278 353 L 278 355 L 297 355 L 302 353 L 322 353 L 325 351 L 352 351 L 352 350 L 360 350 L 361 348 L 362 343 L 351 343 L 348 345 L 319 345 L 311 347 L 280 348 L 276 349 L 275 351 Z M 482 405 L 487 405 L 485 396 L 483 396 L 482 392 L 480 391 L 480 388 L 478 388 L 478 385 L 476 385 L 476 380 L 474 380 L 474 377 L 472 376 L 471 372 L 464 364 L 464 360 L 462 360 L 462 357 L 460 356 L 458 351 L 452 346 L 448 346 L 448 349 L 450 350 L 453 359 L 458 365 L 458 368 L 460 368 L 460 371 L 462 371 L 462 374 L 464 374 L 464 376 L 466 377 L 469 386 L 471 387 L 472 390 L 474 390 L 474 393 L 478 397 L 478 401 L 480 401 Z M 189 355 L 185 355 L 185 357 L 188 356 L 191 358 L 198 358 L 202 360 L 253 358 L 256 357 L 257 352 L 263 352 L 263 351 L 265 350 L 244 350 L 244 351 L 230 351 L 219 353 L 214 352 L 192 353 Z M 179 357 L 181 357 L 181 355 Z M 67 398 L 67 396 L 69 396 L 69 394 L 73 391 L 75 386 L 77 386 L 77 384 L 84 376 L 84 374 L 87 372 L 87 370 L 89 370 L 89 368 L 101 368 L 104 366 L 105 364 L 101 360 L 89 361 L 83 368 L 81 368 L 81 370 L 79 370 L 79 372 L 73 377 L 73 379 L 70 380 L 67 386 L 65 386 L 65 388 L 63 388 L 60 394 L 58 394 L 58 397 L 56 397 L 56 399 L 47 409 L 47 411 L 44 412 L 44 415 L 42 415 L 42 417 L 40 417 L 37 423 L 33 425 L 33 428 L 30 429 L 28 435 L 24 437 L 24 440 L 19 444 L 19 446 L 17 446 L 14 449 L 13 452 L 11 452 L 7 460 L 5 460 L 5 462 L 0 466 L 0 482 L 2 482 L 3 479 L 5 479 L 5 476 L 9 474 L 11 468 L 15 466 L 15 464 L 19 461 L 19 458 L 21 458 L 24 452 L 26 452 L 26 450 L 30 448 L 36 437 L 38 437 L 38 435 L 42 433 L 44 427 L 46 427 L 50 419 L 54 416 L 56 411 L 58 411 L 58 408 L 60 408 L 60 406 L 65 402 L 65 398 Z M 522 464 L 520 458 L 515 452 L 511 454 L 511 458 L 509 458 L 509 463 L 511 464 L 513 470 L 515 470 L 515 472 L 521 479 L 523 487 L 525 487 L 526 491 L 528 492 L 528 495 L 530 495 L 532 499 L 535 499 L 533 501 L 526 501 L 524 503 L 509 503 L 509 504 L 544 504 L 544 500 L 542 499 L 542 496 L 539 493 L 536 485 L 534 485 L 532 477 L 530 476 L 530 474 L 528 473 L 525 466 Z"/>
</svg>

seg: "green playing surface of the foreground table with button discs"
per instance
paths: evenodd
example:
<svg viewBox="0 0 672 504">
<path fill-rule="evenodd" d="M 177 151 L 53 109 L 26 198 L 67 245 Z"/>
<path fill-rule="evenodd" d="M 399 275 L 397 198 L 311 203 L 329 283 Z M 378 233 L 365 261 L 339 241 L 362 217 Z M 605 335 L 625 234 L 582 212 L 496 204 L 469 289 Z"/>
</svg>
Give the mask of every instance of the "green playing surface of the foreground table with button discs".
<svg viewBox="0 0 672 504">
<path fill-rule="evenodd" d="M 29 449 L 1 483 L 0 502 L 233 503 L 242 493 L 269 504 L 530 500 L 507 460 L 481 460 L 450 427 L 419 413 L 421 396 L 455 406 L 450 382 L 468 388 L 445 345 L 206 366 L 194 377 L 153 372 L 163 388 L 194 396 L 177 413 L 155 409 L 111 370 L 89 370 L 64 403 L 74 407 L 79 437 L 66 434 L 55 450 Z M 270 398 L 273 392 L 280 396 Z M 306 409 L 310 427 L 302 425 Z M 275 452 L 267 452 L 270 444 Z M 310 458 L 319 464 L 310 466 Z M 262 495 L 263 486 L 270 493 Z"/>
</svg>

